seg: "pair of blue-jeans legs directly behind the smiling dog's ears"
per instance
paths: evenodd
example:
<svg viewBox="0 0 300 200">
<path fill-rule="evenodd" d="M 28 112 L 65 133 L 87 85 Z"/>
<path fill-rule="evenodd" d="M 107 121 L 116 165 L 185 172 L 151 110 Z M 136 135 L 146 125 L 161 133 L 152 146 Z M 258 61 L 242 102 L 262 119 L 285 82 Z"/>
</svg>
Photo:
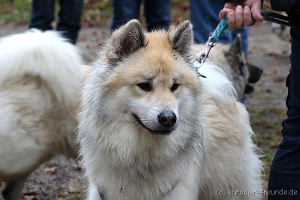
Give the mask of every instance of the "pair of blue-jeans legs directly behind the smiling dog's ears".
<svg viewBox="0 0 300 200">
<path fill-rule="evenodd" d="M 130 19 L 137 19 L 141 0 L 112 0 L 113 17 L 111 30 Z M 147 29 L 167 29 L 170 24 L 170 0 L 144 0 Z"/>
</svg>

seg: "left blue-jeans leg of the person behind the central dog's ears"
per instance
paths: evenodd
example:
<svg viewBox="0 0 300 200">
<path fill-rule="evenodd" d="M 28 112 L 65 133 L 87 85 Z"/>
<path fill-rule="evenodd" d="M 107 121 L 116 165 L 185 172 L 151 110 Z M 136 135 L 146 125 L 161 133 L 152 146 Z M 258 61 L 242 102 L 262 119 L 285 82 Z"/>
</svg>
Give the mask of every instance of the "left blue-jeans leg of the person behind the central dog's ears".
<svg viewBox="0 0 300 200">
<path fill-rule="evenodd" d="M 113 16 L 111 31 L 123 25 L 130 19 L 137 19 L 140 0 L 112 0 Z"/>
</svg>

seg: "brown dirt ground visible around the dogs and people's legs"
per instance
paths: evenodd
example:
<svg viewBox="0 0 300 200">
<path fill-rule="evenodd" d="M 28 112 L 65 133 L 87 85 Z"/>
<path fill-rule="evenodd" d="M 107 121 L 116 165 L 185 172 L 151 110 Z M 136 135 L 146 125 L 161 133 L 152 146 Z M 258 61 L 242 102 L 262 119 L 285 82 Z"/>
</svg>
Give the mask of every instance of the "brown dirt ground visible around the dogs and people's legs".
<svg viewBox="0 0 300 200">
<path fill-rule="evenodd" d="M 105 27 L 83 27 L 77 46 L 86 63 L 91 61 L 109 33 Z M 27 26 L 3 25 L 0 36 L 22 32 Z M 249 33 L 249 61 L 263 70 L 255 91 L 247 99 L 256 142 L 266 156 L 266 172 L 281 139 L 280 121 L 285 116 L 285 77 L 289 70 L 289 43 L 271 33 L 270 24 L 256 24 Z M 268 177 L 266 176 L 266 179 Z M 86 186 L 75 160 L 59 156 L 41 165 L 26 182 L 23 199 L 82 199 Z M 30 195 L 33 194 L 33 195 Z M 0 200 L 2 200 L 0 196 Z"/>
</svg>

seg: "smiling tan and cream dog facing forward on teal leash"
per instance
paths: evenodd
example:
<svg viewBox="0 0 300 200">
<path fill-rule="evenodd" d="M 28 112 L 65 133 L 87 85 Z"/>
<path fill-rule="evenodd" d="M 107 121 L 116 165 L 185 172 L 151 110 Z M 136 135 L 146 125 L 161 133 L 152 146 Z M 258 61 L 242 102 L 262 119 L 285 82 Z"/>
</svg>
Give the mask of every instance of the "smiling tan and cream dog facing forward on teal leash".
<svg viewBox="0 0 300 200">
<path fill-rule="evenodd" d="M 89 200 L 261 198 L 218 195 L 259 191 L 261 162 L 232 83 L 213 63 L 199 78 L 191 43 L 188 21 L 144 33 L 131 20 L 106 41 L 78 115 Z"/>
</svg>

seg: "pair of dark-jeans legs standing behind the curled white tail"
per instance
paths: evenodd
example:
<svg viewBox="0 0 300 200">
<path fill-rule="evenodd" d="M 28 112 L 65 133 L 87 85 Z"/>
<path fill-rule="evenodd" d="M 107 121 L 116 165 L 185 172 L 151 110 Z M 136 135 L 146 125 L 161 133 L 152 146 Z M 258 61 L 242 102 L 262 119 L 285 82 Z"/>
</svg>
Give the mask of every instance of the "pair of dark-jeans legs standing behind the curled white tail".
<svg viewBox="0 0 300 200">
<path fill-rule="evenodd" d="M 29 28 L 51 30 L 55 0 L 32 0 Z M 83 0 L 59 0 L 60 11 L 56 30 L 75 43 L 80 29 Z"/>
</svg>

